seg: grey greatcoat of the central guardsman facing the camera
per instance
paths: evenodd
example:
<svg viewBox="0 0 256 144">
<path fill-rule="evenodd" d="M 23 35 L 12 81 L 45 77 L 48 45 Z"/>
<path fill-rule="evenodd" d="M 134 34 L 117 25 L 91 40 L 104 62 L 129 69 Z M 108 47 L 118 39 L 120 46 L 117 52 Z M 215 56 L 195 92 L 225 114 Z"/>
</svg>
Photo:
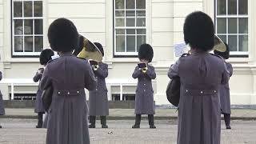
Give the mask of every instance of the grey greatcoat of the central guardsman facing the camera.
<svg viewBox="0 0 256 144">
<path fill-rule="evenodd" d="M 142 73 L 138 66 L 135 67 L 133 78 L 138 78 L 135 95 L 134 114 L 155 114 L 154 112 L 154 90 L 151 80 L 156 78 L 154 66 L 147 67 L 146 73 Z"/>
</svg>

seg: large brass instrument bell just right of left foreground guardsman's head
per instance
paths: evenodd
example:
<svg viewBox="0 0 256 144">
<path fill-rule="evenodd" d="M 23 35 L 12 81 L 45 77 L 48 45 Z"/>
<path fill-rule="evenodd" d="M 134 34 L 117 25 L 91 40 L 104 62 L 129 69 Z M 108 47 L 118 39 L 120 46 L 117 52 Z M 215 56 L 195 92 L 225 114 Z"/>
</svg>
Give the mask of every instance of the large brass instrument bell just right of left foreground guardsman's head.
<svg viewBox="0 0 256 144">
<path fill-rule="evenodd" d="M 90 60 L 93 60 L 94 64 L 91 64 L 91 62 L 90 62 L 90 65 L 93 67 L 94 70 L 98 70 L 98 62 L 102 61 L 101 51 L 98 50 L 98 47 L 94 45 L 94 42 L 90 42 L 90 40 L 88 38 L 85 38 L 82 35 L 80 35 L 79 37 L 82 37 L 81 39 L 83 40 L 83 47 L 80 48 L 82 50 L 80 52 L 78 52 L 77 57 L 78 58 L 86 58 L 89 60 L 89 62 L 90 62 Z M 77 51 L 76 51 L 76 53 L 77 53 Z"/>
</svg>

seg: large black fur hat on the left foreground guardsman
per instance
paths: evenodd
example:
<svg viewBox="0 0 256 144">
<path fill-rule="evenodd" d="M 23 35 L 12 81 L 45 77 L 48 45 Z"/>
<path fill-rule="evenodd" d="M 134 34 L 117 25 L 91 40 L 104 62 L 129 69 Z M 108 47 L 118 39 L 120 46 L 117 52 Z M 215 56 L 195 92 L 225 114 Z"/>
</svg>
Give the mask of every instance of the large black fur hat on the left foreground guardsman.
<svg viewBox="0 0 256 144">
<path fill-rule="evenodd" d="M 78 30 L 70 20 L 58 18 L 49 26 L 48 40 L 52 50 L 70 52 L 78 46 Z"/>
</svg>

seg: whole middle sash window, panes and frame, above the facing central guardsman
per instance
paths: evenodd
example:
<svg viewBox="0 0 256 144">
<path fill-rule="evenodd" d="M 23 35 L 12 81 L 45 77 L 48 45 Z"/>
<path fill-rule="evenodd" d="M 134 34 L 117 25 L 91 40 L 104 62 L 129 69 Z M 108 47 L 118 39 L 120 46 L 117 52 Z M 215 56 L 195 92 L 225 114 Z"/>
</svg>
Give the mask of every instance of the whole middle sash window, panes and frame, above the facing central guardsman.
<svg viewBox="0 0 256 144">
<path fill-rule="evenodd" d="M 146 43 L 146 0 L 114 0 L 114 55 L 137 55 Z"/>
</svg>

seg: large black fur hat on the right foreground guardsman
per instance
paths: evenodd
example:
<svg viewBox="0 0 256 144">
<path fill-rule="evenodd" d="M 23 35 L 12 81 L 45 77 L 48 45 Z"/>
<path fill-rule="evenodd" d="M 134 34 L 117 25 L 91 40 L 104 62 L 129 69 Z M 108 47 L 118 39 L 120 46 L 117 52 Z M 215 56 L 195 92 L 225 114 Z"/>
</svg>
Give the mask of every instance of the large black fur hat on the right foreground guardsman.
<svg viewBox="0 0 256 144">
<path fill-rule="evenodd" d="M 214 22 L 202 11 L 186 16 L 183 33 L 191 48 L 208 51 L 214 47 Z"/>
</svg>

